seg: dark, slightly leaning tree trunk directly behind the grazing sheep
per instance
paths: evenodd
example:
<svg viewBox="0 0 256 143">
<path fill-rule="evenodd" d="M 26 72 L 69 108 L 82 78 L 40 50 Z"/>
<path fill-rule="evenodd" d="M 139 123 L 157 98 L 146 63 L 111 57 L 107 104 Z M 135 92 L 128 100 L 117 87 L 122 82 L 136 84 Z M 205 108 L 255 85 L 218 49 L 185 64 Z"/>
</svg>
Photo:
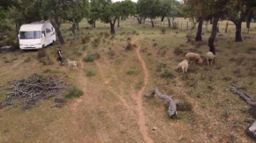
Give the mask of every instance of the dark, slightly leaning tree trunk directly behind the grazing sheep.
<svg viewBox="0 0 256 143">
<path fill-rule="evenodd" d="M 212 34 L 208 39 L 208 46 L 209 46 L 209 51 L 212 52 L 213 54 L 216 54 L 215 51 L 215 38 L 217 35 L 217 30 L 218 30 L 218 22 L 219 22 L 219 16 L 215 16 L 213 20 L 213 27 L 212 27 Z"/>
</svg>

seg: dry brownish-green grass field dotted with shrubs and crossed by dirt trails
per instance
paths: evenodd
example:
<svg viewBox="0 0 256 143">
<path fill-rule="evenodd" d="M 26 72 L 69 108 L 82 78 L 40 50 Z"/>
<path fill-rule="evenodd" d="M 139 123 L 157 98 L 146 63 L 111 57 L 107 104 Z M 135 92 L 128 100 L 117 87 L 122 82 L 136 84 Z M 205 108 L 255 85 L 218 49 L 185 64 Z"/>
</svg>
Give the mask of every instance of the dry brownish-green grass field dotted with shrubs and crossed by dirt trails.
<svg viewBox="0 0 256 143">
<path fill-rule="evenodd" d="M 203 42 L 187 43 L 188 33 L 196 31 L 166 29 L 163 34 L 161 27 L 121 21 L 116 35 L 110 35 L 109 25 L 98 22 L 92 29 L 83 20 L 84 38 L 75 39 L 71 25 L 64 24 L 66 43 L 46 47 L 47 57 L 41 61 L 38 51 L 0 54 L 4 88 L 9 81 L 33 73 L 65 73 L 64 81 L 84 92 L 62 108 L 50 108 L 52 98 L 29 111 L 21 106 L 0 109 L 0 142 L 253 142 L 245 135 L 253 120 L 250 106 L 226 89 L 240 84 L 256 99 L 256 24 L 252 23 L 250 34 L 243 24 L 244 41 L 236 43 L 235 26 L 225 33 L 225 23 L 220 22 L 213 67 L 207 67 L 206 61 L 190 65 L 186 75 L 174 69 L 187 52 L 207 53 L 210 33 L 205 28 Z M 125 51 L 127 39 L 137 47 Z M 79 71 L 57 64 L 56 46 L 65 59 L 79 61 Z M 90 54 L 100 57 L 84 62 Z M 154 87 L 186 101 L 192 110 L 177 111 L 176 118 L 169 118 L 167 103 L 143 96 Z M 0 92 L 0 101 L 6 93 Z"/>
</svg>

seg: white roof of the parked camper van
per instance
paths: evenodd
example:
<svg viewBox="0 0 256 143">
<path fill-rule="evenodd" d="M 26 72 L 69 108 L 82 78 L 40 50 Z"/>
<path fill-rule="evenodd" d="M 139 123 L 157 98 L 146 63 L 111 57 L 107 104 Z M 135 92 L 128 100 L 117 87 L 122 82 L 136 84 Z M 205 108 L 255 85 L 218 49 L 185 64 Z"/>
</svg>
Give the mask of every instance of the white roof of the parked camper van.
<svg viewBox="0 0 256 143">
<path fill-rule="evenodd" d="M 21 25 L 20 32 L 29 32 L 29 31 L 41 31 L 42 25 L 49 24 L 49 22 L 34 22 L 31 24 Z"/>
</svg>

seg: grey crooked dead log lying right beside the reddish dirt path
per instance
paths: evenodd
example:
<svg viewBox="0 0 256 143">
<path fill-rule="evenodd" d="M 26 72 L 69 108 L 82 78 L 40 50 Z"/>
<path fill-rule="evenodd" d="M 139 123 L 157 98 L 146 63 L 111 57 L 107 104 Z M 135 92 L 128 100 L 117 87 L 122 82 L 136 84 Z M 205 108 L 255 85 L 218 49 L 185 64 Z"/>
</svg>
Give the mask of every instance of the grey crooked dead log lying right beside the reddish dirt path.
<svg viewBox="0 0 256 143">
<path fill-rule="evenodd" d="M 150 95 L 145 95 L 145 97 L 154 97 L 154 95 L 156 95 L 157 97 L 169 103 L 169 109 L 168 109 L 169 117 L 176 116 L 177 106 L 175 101 L 172 99 L 172 96 L 162 95 L 162 93 L 157 88 L 154 88 L 154 91 Z"/>
</svg>

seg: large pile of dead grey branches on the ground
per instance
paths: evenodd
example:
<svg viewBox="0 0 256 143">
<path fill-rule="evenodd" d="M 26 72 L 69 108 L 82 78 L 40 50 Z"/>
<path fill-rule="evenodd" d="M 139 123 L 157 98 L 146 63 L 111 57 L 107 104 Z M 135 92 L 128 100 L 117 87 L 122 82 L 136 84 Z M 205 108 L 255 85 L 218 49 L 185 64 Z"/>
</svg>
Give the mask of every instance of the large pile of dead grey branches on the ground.
<svg viewBox="0 0 256 143">
<path fill-rule="evenodd" d="M 25 109 L 30 109 L 39 100 L 49 99 L 60 94 L 65 89 L 65 83 L 59 80 L 58 76 L 53 75 L 30 75 L 26 79 L 10 82 L 11 90 L 0 103 L 0 108 L 17 104 L 24 105 Z"/>
</svg>

